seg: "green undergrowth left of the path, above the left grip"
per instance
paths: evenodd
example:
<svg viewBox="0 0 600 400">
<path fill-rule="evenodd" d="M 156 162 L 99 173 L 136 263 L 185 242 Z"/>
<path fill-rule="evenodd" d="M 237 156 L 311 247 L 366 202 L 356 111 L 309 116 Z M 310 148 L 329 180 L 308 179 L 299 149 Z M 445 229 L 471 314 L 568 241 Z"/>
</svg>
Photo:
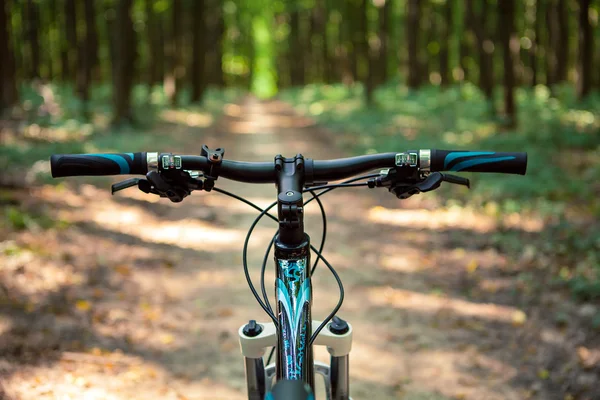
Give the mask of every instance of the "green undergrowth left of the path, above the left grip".
<svg viewBox="0 0 600 400">
<path fill-rule="evenodd" d="M 169 127 L 161 126 L 164 134 L 148 135 L 161 121 L 161 112 L 169 109 L 162 88 L 150 90 L 137 86 L 133 92 L 133 125 L 113 127 L 110 86 L 92 90 L 88 106 L 89 120 L 84 118 L 83 105 L 74 96 L 71 86 L 50 84 L 52 105 L 44 102 L 40 90 L 30 85 L 21 87 L 21 104 L 15 108 L 9 122 L 10 134 L 0 147 L 0 168 L 5 174 L 23 172 L 38 162 L 47 162 L 56 153 L 136 152 L 177 148 L 177 137 Z M 236 89 L 208 90 L 201 105 L 189 102 L 183 91 L 177 111 L 209 115 L 218 118 L 223 105 L 242 94 Z M 177 122 L 174 122 L 177 125 Z M 200 146 L 200 144 L 199 144 Z M 198 152 L 200 150 L 198 149 Z M 42 169 L 48 175 L 47 169 Z M 42 177 L 42 180 L 49 182 Z"/>
</svg>

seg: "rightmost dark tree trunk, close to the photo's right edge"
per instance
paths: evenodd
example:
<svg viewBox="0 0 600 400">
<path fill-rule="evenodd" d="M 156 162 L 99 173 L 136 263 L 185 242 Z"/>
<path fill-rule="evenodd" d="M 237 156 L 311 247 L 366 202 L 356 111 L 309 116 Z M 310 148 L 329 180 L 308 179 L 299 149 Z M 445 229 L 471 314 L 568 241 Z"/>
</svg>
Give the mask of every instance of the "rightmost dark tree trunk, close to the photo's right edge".
<svg viewBox="0 0 600 400">
<path fill-rule="evenodd" d="M 582 100 L 592 89 L 593 36 L 590 24 L 591 0 L 579 0 L 579 56 L 577 68 L 577 97 Z"/>
</svg>

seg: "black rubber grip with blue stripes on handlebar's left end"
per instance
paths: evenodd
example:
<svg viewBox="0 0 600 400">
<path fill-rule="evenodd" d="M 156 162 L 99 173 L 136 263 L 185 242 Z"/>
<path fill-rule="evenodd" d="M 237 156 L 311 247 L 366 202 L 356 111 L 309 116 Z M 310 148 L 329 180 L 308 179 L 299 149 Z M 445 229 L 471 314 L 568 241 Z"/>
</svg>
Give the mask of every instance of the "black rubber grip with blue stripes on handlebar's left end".
<svg viewBox="0 0 600 400">
<path fill-rule="evenodd" d="M 146 152 L 120 154 L 53 154 L 53 178 L 64 176 L 146 175 Z"/>
</svg>

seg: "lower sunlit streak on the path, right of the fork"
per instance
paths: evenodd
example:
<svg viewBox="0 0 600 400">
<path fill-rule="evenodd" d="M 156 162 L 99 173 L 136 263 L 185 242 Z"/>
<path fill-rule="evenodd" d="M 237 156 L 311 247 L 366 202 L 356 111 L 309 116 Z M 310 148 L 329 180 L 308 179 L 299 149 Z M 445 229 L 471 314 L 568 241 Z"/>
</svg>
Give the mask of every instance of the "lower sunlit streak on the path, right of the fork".
<svg viewBox="0 0 600 400">
<path fill-rule="evenodd" d="M 515 307 L 473 303 L 461 299 L 394 289 L 389 286 L 371 287 L 367 290 L 367 297 L 371 304 L 375 306 L 392 306 L 399 309 L 427 312 L 430 314 L 444 311 L 463 317 L 474 317 L 507 323 L 513 322 L 515 315 L 521 313 Z"/>
</svg>

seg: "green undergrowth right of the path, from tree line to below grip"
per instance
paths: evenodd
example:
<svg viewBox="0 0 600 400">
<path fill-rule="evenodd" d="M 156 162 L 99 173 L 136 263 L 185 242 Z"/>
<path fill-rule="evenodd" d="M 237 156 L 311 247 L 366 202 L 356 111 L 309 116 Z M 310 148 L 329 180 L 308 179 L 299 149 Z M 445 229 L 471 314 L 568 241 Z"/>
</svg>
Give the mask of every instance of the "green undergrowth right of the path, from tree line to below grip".
<svg viewBox="0 0 600 400">
<path fill-rule="evenodd" d="M 497 91 L 496 109 L 502 105 Z M 280 93 L 330 128 L 351 154 L 419 148 L 526 151 L 527 175 L 466 173 L 473 188 L 444 185 L 434 197 L 444 206 L 492 214 L 542 217 L 546 227 L 533 238 L 499 229 L 489 235 L 518 262 L 525 244 L 535 249 L 536 274 L 551 276 L 580 300 L 600 298 L 600 94 L 578 103 L 572 87 L 517 90 L 518 129 L 503 130 L 483 94 L 472 84 L 416 92 L 389 83 L 364 105 L 362 87 L 309 85 Z M 423 196 L 423 195 L 422 195 Z M 543 255 L 544 257 L 540 257 Z M 537 276 L 537 275 L 536 275 Z M 537 279 L 537 278 L 536 278 Z M 544 279 L 545 281 L 545 279 Z"/>
</svg>

